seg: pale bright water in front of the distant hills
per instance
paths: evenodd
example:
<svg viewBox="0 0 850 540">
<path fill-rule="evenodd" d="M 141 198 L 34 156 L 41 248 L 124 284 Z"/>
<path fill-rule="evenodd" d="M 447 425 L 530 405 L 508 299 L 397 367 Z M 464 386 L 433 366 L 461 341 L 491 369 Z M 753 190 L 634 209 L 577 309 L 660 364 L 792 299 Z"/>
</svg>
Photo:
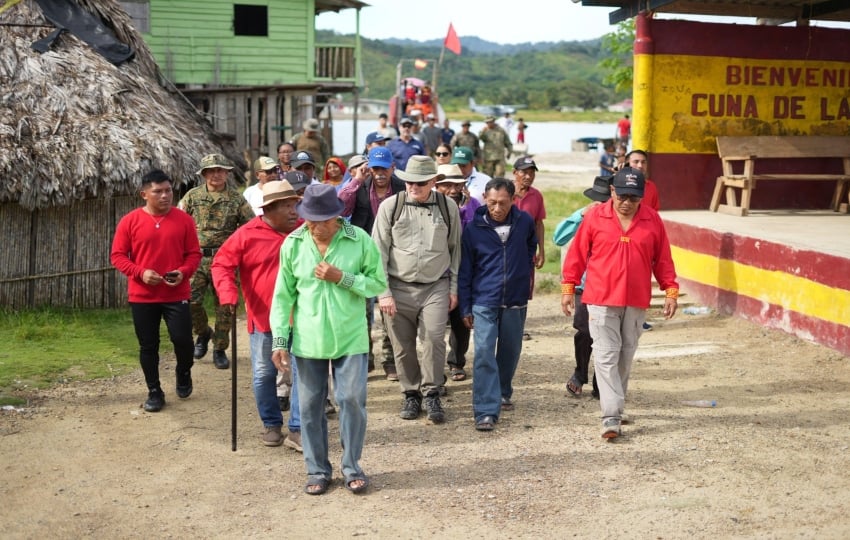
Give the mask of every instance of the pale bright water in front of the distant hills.
<svg viewBox="0 0 850 540">
<path fill-rule="evenodd" d="M 455 131 L 460 131 L 462 120 L 449 121 L 449 125 Z M 350 119 L 334 119 L 334 152 L 336 154 L 348 154 L 360 152 L 365 146 L 366 135 L 377 128 L 375 119 L 358 120 L 357 139 L 358 144 L 352 141 L 354 122 Z M 591 122 L 526 122 L 525 142 L 528 151 L 532 154 L 541 152 L 570 152 L 572 141 L 584 137 L 613 138 L 617 128 L 613 123 L 591 123 Z M 484 127 L 484 122 L 472 122 L 470 131 L 478 133 Z M 516 142 L 516 129 L 511 132 L 511 141 Z"/>
</svg>

